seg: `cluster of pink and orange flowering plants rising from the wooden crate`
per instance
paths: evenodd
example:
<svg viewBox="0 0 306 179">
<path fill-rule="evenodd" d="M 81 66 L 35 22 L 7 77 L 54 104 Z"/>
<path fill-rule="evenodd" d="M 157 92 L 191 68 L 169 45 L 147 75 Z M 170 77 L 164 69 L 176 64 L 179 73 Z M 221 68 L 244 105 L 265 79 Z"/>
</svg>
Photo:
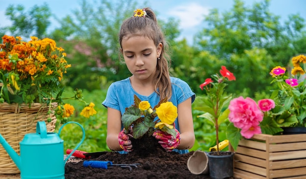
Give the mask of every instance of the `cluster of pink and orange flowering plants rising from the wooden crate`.
<svg viewBox="0 0 306 179">
<path fill-rule="evenodd" d="M 306 133 L 305 63 L 306 56 L 293 57 L 294 68 L 289 77 L 285 75 L 285 67 L 274 67 L 270 71 L 273 77 L 271 84 L 276 84 L 277 89 L 272 90 L 270 99 L 259 100 L 258 106 L 250 98 L 239 97 L 231 101 L 229 120 L 232 123 L 227 127 L 227 138 L 234 150 L 242 137 L 251 138 L 253 134 L 298 134 L 301 131 Z M 244 118 L 240 118 L 241 113 L 246 113 L 246 109 L 240 108 L 238 103 L 249 106 L 251 114 L 257 114 L 256 117 L 243 115 Z M 251 118 L 256 118 L 257 122 L 250 121 Z M 254 123 L 251 124 L 252 122 Z M 293 132 L 286 132 L 287 128 Z"/>
</svg>

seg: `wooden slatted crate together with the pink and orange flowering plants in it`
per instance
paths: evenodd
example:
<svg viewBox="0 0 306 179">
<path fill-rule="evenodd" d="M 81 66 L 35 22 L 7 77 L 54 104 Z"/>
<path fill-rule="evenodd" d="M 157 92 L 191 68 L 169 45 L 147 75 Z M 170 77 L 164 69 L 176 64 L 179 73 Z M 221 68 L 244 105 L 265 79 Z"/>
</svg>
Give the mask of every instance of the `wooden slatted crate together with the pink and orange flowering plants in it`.
<svg viewBox="0 0 306 179">
<path fill-rule="evenodd" d="M 227 138 L 235 151 L 235 177 L 305 177 L 306 134 L 286 134 L 284 128 L 305 129 L 306 57 L 292 58 L 288 77 L 285 67 L 274 67 L 271 84 L 276 84 L 270 99 L 256 103 L 242 96 L 231 100 Z M 284 147 L 288 146 L 288 147 Z M 295 163 L 295 165 L 292 165 Z M 272 166 L 272 167 L 271 167 Z M 261 168 L 261 171 L 258 168 Z M 280 172 L 284 171 L 284 172 Z M 299 171 L 299 172 L 296 172 Z"/>
</svg>

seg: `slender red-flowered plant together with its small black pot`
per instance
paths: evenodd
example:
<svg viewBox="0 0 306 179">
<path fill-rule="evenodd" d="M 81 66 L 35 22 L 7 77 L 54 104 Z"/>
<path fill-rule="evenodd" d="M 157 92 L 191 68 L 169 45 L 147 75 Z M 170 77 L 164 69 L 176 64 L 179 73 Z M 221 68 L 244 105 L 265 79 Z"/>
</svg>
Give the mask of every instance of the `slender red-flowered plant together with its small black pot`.
<svg viewBox="0 0 306 179">
<path fill-rule="evenodd" d="M 236 80 L 233 73 L 222 66 L 220 74 L 212 75 L 212 78 L 207 78 L 199 87 L 206 91 L 207 96 L 199 96 L 197 100 L 201 100 L 201 106 L 195 107 L 196 110 L 203 111 L 203 117 L 210 120 L 216 129 L 216 144 L 217 151 L 207 153 L 209 173 L 211 178 L 223 179 L 233 176 L 233 156 L 232 152 L 224 152 L 219 150 L 219 125 L 227 119 L 229 110 L 227 106 L 232 99 L 232 94 L 225 93 L 225 88 L 228 81 Z"/>
</svg>

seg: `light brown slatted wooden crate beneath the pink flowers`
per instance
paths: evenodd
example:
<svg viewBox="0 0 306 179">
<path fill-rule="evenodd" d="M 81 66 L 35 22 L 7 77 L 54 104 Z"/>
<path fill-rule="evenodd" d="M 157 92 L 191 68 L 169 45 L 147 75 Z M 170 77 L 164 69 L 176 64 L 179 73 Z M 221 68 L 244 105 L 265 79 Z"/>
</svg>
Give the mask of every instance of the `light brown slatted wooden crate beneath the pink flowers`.
<svg viewBox="0 0 306 179">
<path fill-rule="evenodd" d="M 255 134 L 234 152 L 234 177 L 306 179 L 306 134 Z"/>
</svg>

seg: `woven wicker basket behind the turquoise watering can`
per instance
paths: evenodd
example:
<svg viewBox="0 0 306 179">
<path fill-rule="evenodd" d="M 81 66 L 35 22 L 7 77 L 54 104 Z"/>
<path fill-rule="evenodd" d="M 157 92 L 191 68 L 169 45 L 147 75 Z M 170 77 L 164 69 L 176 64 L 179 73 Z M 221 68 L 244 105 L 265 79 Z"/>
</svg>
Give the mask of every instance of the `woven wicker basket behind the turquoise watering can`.
<svg viewBox="0 0 306 179">
<path fill-rule="evenodd" d="M 52 109 L 57 107 L 57 103 L 52 103 Z M 36 133 L 37 121 L 45 121 L 48 118 L 49 108 L 41 103 L 29 105 L 22 104 L 0 104 L 0 134 L 10 144 L 10 146 L 20 155 L 19 143 L 25 134 Z M 51 114 L 51 122 L 46 122 L 47 132 L 54 132 L 56 117 Z M 17 168 L 11 157 L 0 145 L 0 174 L 18 174 Z"/>
</svg>

